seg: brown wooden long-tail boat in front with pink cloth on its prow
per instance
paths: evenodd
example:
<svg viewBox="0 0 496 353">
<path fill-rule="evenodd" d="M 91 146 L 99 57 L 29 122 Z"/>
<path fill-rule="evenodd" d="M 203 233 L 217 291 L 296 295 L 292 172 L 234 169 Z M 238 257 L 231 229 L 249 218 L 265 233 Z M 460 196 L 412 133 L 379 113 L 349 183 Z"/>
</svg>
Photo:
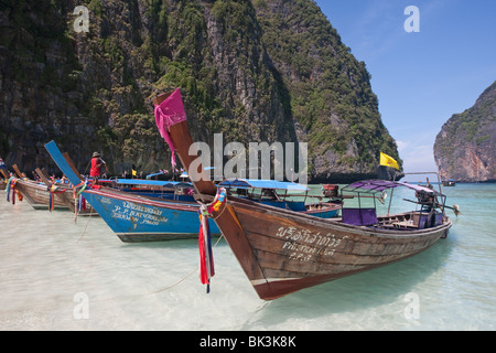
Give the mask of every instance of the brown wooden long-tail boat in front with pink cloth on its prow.
<svg viewBox="0 0 496 353">
<path fill-rule="evenodd" d="M 419 222 L 416 226 L 406 215 L 378 217 L 375 208 L 322 220 L 246 199 L 218 197 L 217 188 L 195 162 L 198 157 L 188 153 L 193 140 L 180 89 L 153 103 L 161 136 L 187 173 L 198 175 L 193 181 L 198 200 L 209 205 L 209 216 L 261 299 L 276 299 L 416 255 L 445 237 L 452 225 L 445 214 L 434 208 L 434 223 L 419 227 Z M 197 170 L 192 170 L 193 162 Z M 370 186 L 365 183 L 364 188 Z M 428 188 L 420 191 L 438 196 Z M 213 202 L 216 207 L 211 207 Z"/>
</svg>

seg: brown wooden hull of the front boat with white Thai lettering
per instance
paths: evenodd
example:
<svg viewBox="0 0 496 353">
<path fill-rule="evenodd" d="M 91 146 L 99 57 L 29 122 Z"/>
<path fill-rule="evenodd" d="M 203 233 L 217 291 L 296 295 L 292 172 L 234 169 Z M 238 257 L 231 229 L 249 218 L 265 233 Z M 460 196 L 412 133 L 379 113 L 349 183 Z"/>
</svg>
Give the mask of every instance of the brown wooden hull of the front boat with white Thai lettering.
<svg viewBox="0 0 496 353">
<path fill-rule="evenodd" d="M 224 224 L 222 216 L 216 222 L 265 300 L 416 255 L 446 236 L 451 227 L 445 222 L 428 229 L 385 231 L 238 200 L 228 203 L 249 246 L 236 238 L 240 229 Z"/>
</svg>

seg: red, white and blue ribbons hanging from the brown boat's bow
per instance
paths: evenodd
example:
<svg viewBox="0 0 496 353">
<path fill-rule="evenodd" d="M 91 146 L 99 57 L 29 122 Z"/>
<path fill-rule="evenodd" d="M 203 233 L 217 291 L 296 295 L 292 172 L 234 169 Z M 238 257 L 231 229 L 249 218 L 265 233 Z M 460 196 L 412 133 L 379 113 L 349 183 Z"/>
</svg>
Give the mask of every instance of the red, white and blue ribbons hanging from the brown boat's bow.
<svg viewBox="0 0 496 353">
<path fill-rule="evenodd" d="M 217 190 L 214 201 L 211 204 L 200 204 L 200 280 L 202 285 L 207 285 L 206 292 L 211 292 L 211 278 L 215 276 L 214 256 L 212 253 L 212 238 L 208 225 L 208 218 L 212 218 L 214 212 L 218 212 L 220 206 L 227 201 L 226 189 Z"/>
</svg>

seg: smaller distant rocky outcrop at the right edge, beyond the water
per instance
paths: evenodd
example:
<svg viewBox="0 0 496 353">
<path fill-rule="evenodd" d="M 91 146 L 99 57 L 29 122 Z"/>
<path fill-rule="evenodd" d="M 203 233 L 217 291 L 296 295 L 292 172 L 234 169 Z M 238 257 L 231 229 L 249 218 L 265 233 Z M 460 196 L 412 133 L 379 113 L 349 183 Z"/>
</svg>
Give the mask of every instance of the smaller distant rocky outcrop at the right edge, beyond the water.
<svg viewBox="0 0 496 353">
<path fill-rule="evenodd" d="M 496 82 L 443 125 L 434 159 L 443 180 L 496 181 Z"/>
</svg>

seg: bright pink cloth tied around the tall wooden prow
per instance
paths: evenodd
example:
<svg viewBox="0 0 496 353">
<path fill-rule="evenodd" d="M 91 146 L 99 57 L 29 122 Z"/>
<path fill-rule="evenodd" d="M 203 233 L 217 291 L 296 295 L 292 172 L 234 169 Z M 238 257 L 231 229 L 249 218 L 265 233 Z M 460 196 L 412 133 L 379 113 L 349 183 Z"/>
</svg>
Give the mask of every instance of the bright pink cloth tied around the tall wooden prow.
<svg viewBox="0 0 496 353">
<path fill-rule="evenodd" d="M 171 148 L 172 168 L 175 168 L 175 154 L 174 146 L 172 145 L 171 137 L 169 136 L 169 128 L 184 120 L 186 120 L 186 113 L 184 111 L 183 98 L 181 97 L 180 88 L 176 88 L 161 104 L 155 105 L 155 124 L 159 128 L 160 135 Z"/>
</svg>

